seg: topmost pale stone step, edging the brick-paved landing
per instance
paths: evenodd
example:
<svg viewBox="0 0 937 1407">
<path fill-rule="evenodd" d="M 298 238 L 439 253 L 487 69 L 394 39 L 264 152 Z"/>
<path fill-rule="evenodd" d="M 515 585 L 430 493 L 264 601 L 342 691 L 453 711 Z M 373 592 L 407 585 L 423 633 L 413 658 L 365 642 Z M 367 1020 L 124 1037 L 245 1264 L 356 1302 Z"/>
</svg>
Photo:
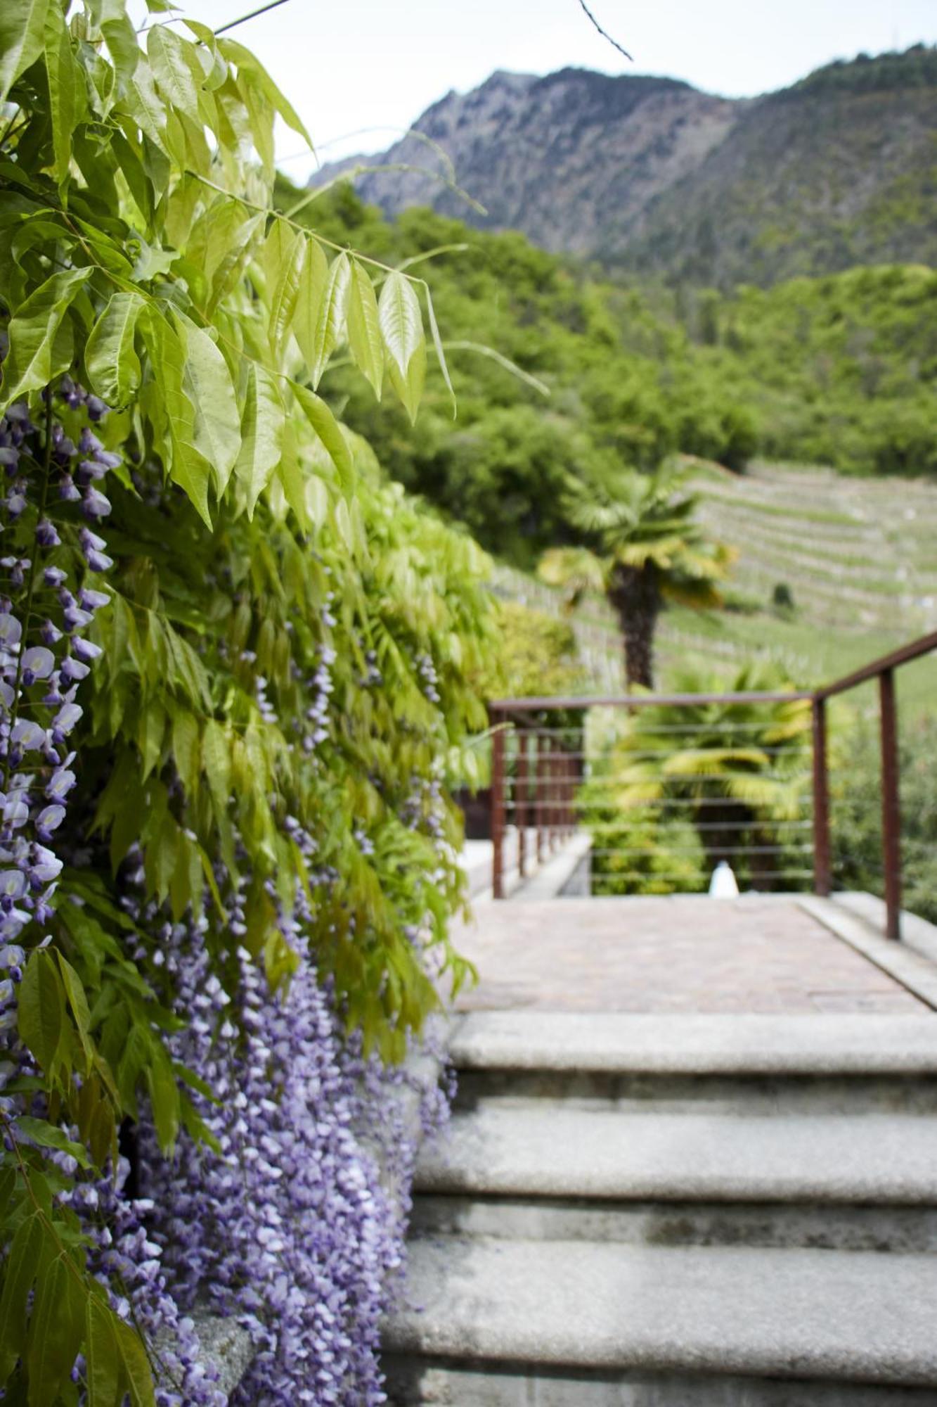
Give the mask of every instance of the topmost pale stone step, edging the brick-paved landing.
<svg viewBox="0 0 937 1407">
<path fill-rule="evenodd" d="M 478 1012 L 453 1029 L 456 1107 L 937 1113 L 934 1016 Z"/>
</svg>

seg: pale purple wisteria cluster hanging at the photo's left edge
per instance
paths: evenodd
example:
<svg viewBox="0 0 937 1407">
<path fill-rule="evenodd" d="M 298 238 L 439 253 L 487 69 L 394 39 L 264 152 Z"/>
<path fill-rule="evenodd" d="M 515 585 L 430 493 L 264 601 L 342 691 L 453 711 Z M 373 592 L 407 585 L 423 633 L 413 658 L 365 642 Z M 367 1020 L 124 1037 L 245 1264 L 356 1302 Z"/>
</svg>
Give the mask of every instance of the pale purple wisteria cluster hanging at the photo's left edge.
<svg viewBox="0 0 937 1407">
<path fill-rule="evenodd" d="M 0 1030 L 15 1023 L 27 923 L 51 913 L 62 861 L 52 848 L 75 785 L 69 736 L 82 718 L 76 702 L 100 647 L 87 639 L 110 597 L 89 582 L 113 566 L 97 525 L 111 505 L 98 487 L 121 463 L 91 429 L 107 407 L 69 377 L 59 405 L 83 422 L 77 439 L 45 395 L 45 424 L 25 404 L 0 418 L 0 498 L 6 554 L 0 568 Z M 76 516 L 77 504 L 84 523 Z M 68 539 L 68 542 L 65 540 Z M 82 580 L 80 580 L 82 578 Z"/>
</svg>

